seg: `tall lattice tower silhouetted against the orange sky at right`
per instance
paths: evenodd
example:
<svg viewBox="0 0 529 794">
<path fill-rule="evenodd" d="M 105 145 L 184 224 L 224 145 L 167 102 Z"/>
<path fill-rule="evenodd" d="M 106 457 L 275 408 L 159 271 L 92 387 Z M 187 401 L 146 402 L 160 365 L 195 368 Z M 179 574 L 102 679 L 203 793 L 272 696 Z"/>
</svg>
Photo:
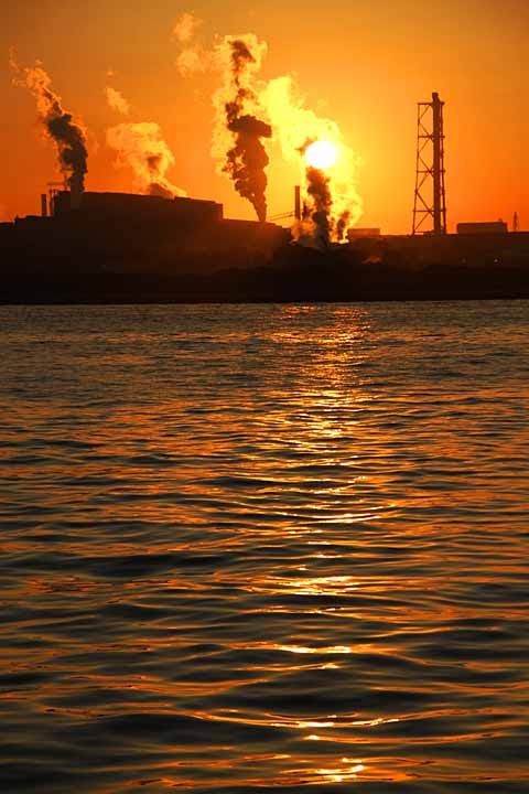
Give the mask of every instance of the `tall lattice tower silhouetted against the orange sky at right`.
<svg viewBox="0 0 529 794">
<path fill-rule="evenodd" d="M 414 235 L 446 234 L 443 106 L 436 93 L 431 103 L 418 103 Z M 428 217 L 432 218 L 431 229 L 422 227 Z"/>
</svg>

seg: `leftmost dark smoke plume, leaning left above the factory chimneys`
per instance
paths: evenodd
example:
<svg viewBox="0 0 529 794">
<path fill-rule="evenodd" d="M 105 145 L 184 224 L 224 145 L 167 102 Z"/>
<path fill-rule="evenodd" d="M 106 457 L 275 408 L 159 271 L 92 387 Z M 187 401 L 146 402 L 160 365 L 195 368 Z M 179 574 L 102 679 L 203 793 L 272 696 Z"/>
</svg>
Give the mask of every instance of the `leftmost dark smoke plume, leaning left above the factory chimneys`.
<svg viewBox="0 0 529 794">
<path fill-rule="evenodd" d="M 39 117 L 56 146 L 61 172 L 72 194 L 78 197 L 84 191 L 88 170 L 85 130 L 78 121 L 74 121 L 72 114 L 64 110 L 61 97 L 52 90 L 52 79 L 42 66 L 21 71 L 14 60 L 11 64 L 19 74 L 23 73 L 23 78 L 15 79 L 15 83 L 24 85 L 35 97 Z"/>
</svg>

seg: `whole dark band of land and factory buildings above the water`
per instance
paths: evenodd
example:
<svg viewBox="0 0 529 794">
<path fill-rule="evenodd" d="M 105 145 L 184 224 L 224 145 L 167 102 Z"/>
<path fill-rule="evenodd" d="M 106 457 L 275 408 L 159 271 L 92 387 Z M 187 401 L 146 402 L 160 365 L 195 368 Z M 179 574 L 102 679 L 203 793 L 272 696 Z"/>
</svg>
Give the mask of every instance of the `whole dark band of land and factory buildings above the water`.
<svg viewBox="0 0 529 794">
<path fill-rule="evenodd" d="M 192 200 L 87 193 L 0 224 L 1 303 L 529 298 L 529 234 L 353 238 L 323 250 Z"/>
</svg>

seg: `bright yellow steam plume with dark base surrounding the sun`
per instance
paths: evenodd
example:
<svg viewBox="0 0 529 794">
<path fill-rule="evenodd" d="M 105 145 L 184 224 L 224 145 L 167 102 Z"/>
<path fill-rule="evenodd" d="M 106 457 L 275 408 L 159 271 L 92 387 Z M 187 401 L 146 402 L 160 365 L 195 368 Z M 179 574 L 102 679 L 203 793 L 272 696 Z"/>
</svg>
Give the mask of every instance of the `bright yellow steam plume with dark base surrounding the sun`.
<svg viewBox="0 0 529 794">
<path fill-rule="evenodd" d="M 300 239 L 341 242 L 361 216 L 363 204 L 356 190 L 357 158 L 343 141 L 338 125 L 319 117 L 296 96 L 291 76 L 270 81 L 259 95 L 285 160 L 301 168 L 304 194 L 303 218 L 293 233 Z M 304 154 L 310 143 L 330 141 L 337 151 L 336 165 L 321 171 L 309 167 Z"/>
</svg>

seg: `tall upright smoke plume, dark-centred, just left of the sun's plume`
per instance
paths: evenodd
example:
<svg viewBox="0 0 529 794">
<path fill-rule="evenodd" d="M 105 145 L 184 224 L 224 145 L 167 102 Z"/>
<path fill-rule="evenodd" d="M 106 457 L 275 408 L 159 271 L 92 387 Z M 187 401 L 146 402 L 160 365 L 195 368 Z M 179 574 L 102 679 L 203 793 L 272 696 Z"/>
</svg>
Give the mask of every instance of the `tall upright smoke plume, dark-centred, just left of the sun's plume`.
<svg viewBox="0 0 529 794">
<path fill-rule="evenodd" d="M 252 33 L 226 36 L 215 49 L 224 82 L 214 96 L 213 153 L 236 191 L 252 204 L 259 221 L 267 217 L 264 169 L 269 162 L 261 139 L 271 138 L 272 128 L 257 116 L 259 103 L 251 84 L 266 49 Z"/>
</svg>

